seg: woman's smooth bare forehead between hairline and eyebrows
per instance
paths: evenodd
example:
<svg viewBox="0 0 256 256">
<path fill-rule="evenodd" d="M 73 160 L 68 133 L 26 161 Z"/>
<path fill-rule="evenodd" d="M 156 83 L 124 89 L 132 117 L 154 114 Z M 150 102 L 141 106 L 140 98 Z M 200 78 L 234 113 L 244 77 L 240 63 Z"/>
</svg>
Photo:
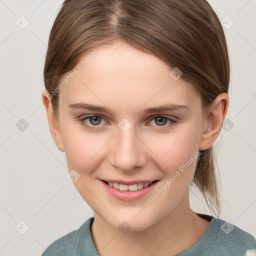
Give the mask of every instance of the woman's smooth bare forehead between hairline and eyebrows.
<svg viewBox="0 0 256 256">
<path fill-rule="evenodd" d="M 122 41 L 96 47 L 96 51 L 92 48 L 81 56 L 75 69 L 59 95 L 65 105 L 86 100 L 137 108 L 146 102 L 191 105 L 199 98 L 192 84 L 170 76 L 172 67 Z"/>
</svg>

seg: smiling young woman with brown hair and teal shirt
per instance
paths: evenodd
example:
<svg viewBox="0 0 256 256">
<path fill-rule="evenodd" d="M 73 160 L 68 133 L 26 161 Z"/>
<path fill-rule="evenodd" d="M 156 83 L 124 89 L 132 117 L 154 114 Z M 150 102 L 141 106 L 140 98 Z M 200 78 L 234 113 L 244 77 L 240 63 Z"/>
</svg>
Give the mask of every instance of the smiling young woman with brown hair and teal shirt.
<svg viewBox="0 0 256 256">
<path fill-rule="evenodd" d="M 43 256 L 255 253 L 218 218 L 229 60 L 206 0 L 65 0 L 44 82 L 51 135 L 94 214 Z M 191 184 L 215 217 L 190 208 Z"/>
</svg>

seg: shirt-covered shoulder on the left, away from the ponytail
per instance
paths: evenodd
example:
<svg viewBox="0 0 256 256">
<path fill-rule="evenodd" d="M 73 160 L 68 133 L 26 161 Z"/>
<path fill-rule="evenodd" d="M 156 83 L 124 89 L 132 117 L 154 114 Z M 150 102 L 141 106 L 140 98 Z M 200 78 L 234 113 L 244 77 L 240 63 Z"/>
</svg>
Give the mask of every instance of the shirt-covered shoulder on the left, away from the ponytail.
<svg viewBox="0 0 256 256">
<path fill-rule="evenodd" d="M 80 230 L 86 229 L 87 226 L 90 224 L 91 218 L 87 219 L 78 229 L 73 230 L 54 242 L 52 242 L 42 253 L 41 256 L 63 256 L 63 255 L 72 255 L 75 245 L 76 245 L 76 240 L 77 240 L 77 235 Z"/>
</svg>

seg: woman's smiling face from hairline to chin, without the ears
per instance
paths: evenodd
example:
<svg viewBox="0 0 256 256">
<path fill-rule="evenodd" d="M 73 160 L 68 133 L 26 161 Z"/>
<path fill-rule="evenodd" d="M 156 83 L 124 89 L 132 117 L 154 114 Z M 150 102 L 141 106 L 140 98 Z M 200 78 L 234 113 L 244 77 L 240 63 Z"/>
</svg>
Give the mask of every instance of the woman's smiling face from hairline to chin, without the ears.
<svg viewBox="0 0 256 256">
<path fill-rule="evenodd" d="M 75 170 L 75 187 L 107 223 L 118 228 L 126 221 L 143 230 L 177 205 L 189 207 L 187 187 L 203 130 L 201 100 L 192 84 L 182 76 L 174 80 L 172 68 L 151 54 L 121 41 L 97 50 L 59 92 L 68 171 Z M 153 109 L 163 105 L 172 108 Z M 117 190 L 102 180 L 122 185 Z"/>
</svg>

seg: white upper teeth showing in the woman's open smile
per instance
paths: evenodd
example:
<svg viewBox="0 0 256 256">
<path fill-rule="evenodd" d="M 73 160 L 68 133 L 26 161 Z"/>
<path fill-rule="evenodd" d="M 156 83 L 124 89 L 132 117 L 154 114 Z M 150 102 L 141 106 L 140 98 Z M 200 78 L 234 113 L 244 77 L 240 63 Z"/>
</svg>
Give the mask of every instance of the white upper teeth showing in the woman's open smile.
<svg viewBox="0 0 256 256">
<path fill-rule="evenodd" d="M 138 183 L 131 183 L 131 182 L 125 182 L 126 184 L 123 183 L 117 183 L 117 182 L 111 182 L 111 181 L 106 181 L 101 179 L 104 183 L 106 183 L 108 186 L 113 187 L 115 189 L 121 190 L 121 191 L 137 191 L 140 189 L 143 189 L 145 187 L 151 186 L 153 183 L 157 182 L 157 180 L 153 181 L 146 181 L 146 182 L 138 182 Z M 127 184 L 130 183 L 130 184 Z"/>
</svg>

